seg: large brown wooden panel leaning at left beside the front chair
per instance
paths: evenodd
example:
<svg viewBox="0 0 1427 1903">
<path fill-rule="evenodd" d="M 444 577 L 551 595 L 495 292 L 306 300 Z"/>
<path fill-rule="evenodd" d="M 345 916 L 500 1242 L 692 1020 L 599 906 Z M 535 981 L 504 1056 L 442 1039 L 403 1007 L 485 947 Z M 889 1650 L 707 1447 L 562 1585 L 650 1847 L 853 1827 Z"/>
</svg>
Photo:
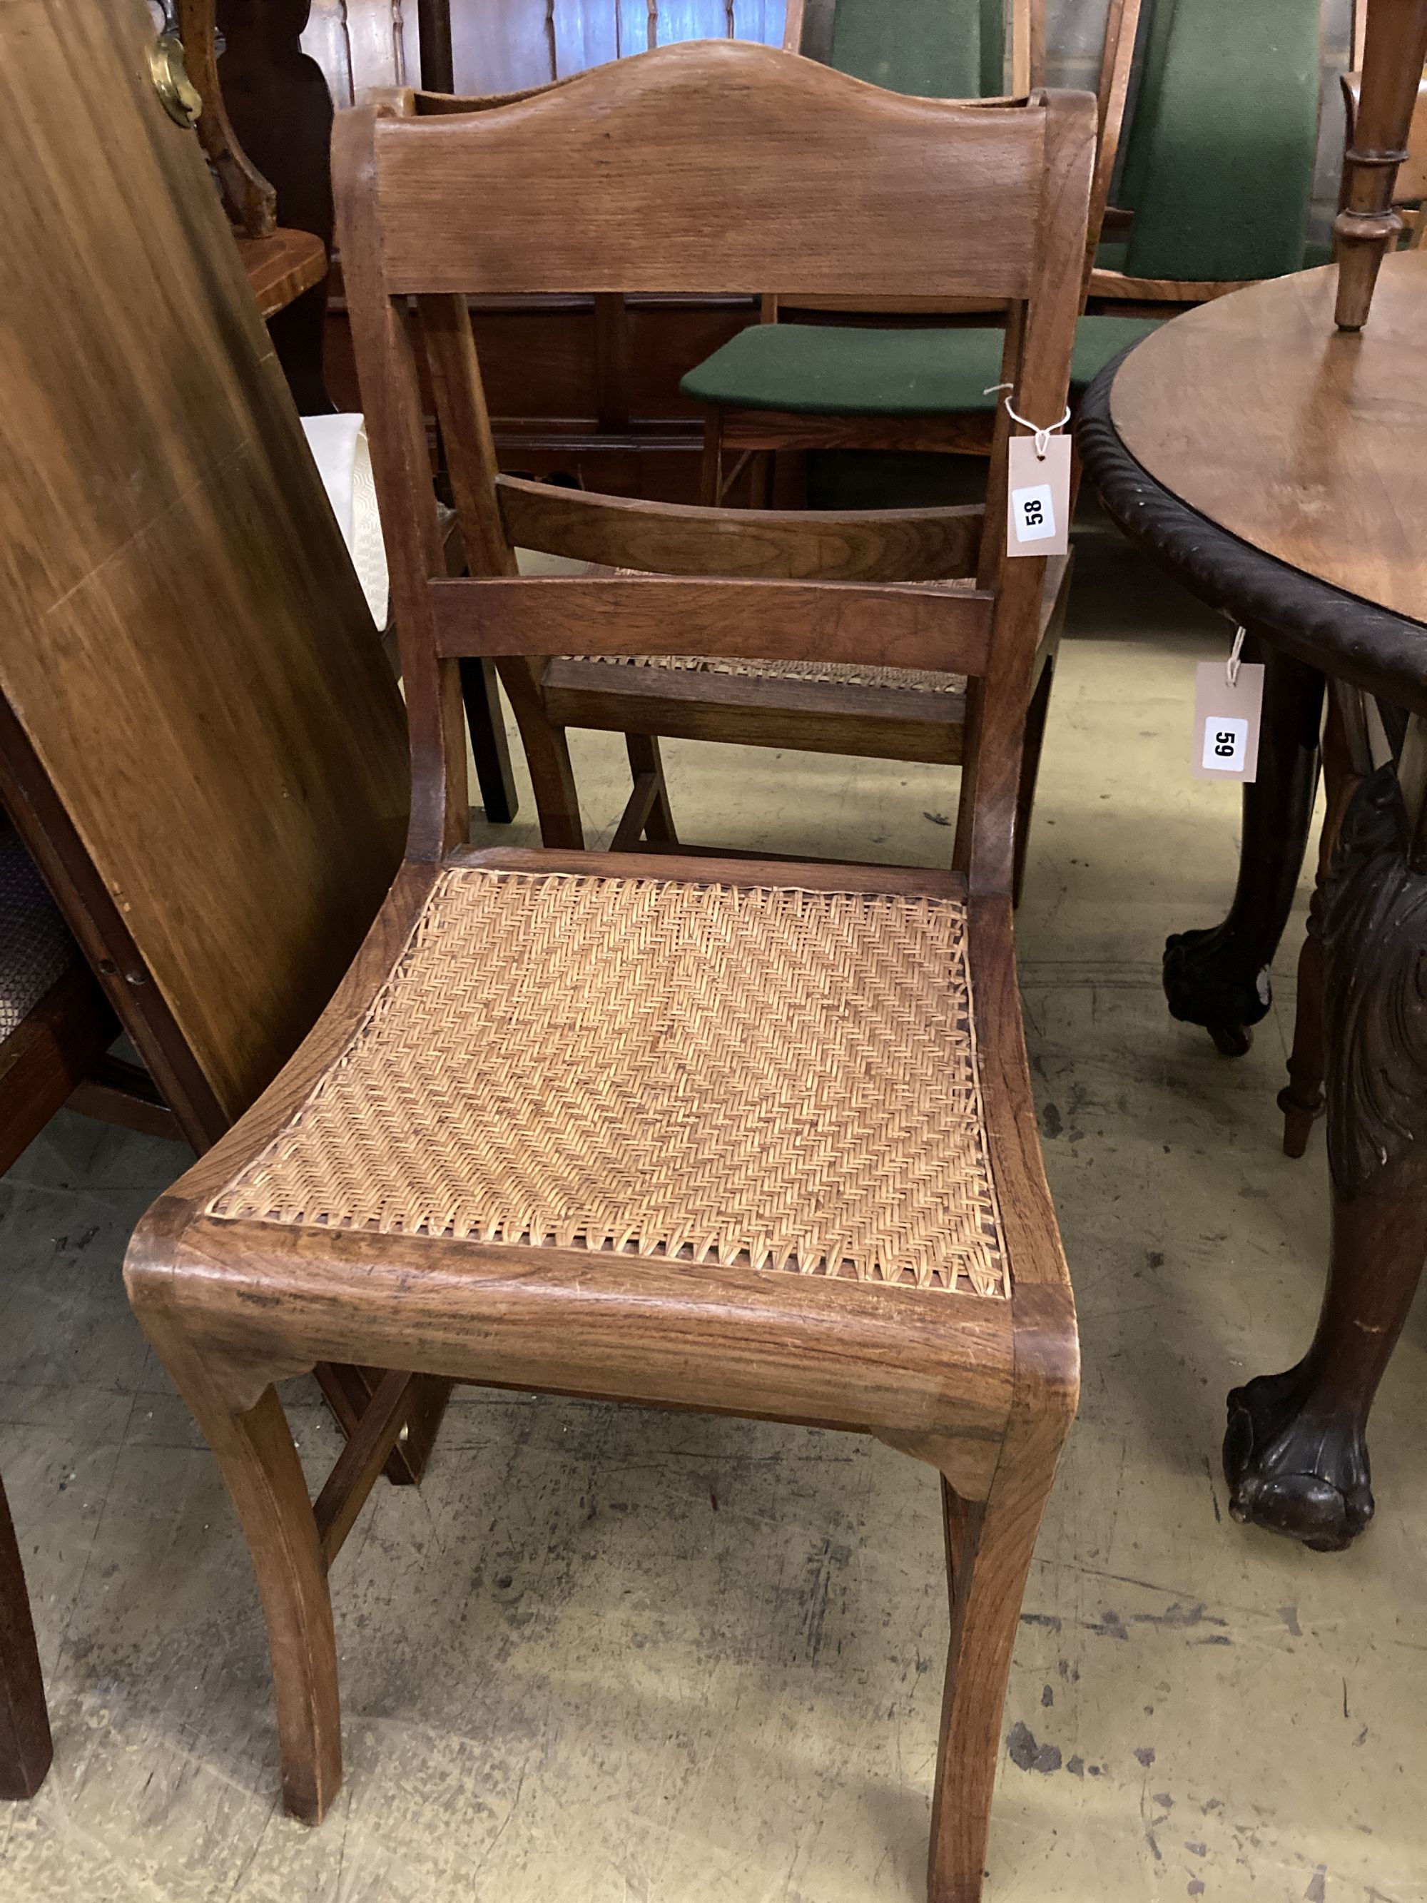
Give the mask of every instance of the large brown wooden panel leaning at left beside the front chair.
<svg viewBox="0 0 1427 1903">
<path fill-rule="evenodd" d="M 236 1115 L 390 879 L 403 723 L 150 32 L 0 11 L 0 693 Z"/>
</svg>

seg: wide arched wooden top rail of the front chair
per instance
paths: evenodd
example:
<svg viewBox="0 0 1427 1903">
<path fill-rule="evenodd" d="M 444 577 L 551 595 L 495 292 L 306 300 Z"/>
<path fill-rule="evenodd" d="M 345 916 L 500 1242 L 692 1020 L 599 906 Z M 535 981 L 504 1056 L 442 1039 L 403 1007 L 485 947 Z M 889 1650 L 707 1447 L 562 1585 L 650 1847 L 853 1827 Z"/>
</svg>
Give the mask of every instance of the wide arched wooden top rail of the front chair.
<svg viewBox="0 0 1427 1903">
<path fill-rule="evenodd" d="M 670 156 L 672 126 L 683 166 Z M 339 194 L 342 166 L 365 166 L 367 137 L 394 293 L 795 297 L 870 278 L 887 297 L 1029 291 L 1039 110 L 877 93 L 729 42 L 620 61 L 468 118 L 369 128 L 365 114 L 344 114 Z M 706 162 L 712 148 L 727 169 Z M 902 242 L 908 228 L 921 234 L 915 247 Z"/>
</svg>

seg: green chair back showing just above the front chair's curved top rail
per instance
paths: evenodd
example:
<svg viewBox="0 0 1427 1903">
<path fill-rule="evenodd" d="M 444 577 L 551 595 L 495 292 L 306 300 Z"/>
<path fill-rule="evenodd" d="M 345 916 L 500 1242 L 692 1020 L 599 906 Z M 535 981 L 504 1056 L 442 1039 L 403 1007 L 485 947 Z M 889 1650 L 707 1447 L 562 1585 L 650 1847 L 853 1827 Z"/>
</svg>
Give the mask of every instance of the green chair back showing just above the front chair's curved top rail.
<svg viewBox="0 0 1427 1903">
<path fill-rule="evenodd" d="M 1003 0 L 837 0 L 830 65 L 921 99 L 993 99 L 1005 88 Z"/>
</svg>

